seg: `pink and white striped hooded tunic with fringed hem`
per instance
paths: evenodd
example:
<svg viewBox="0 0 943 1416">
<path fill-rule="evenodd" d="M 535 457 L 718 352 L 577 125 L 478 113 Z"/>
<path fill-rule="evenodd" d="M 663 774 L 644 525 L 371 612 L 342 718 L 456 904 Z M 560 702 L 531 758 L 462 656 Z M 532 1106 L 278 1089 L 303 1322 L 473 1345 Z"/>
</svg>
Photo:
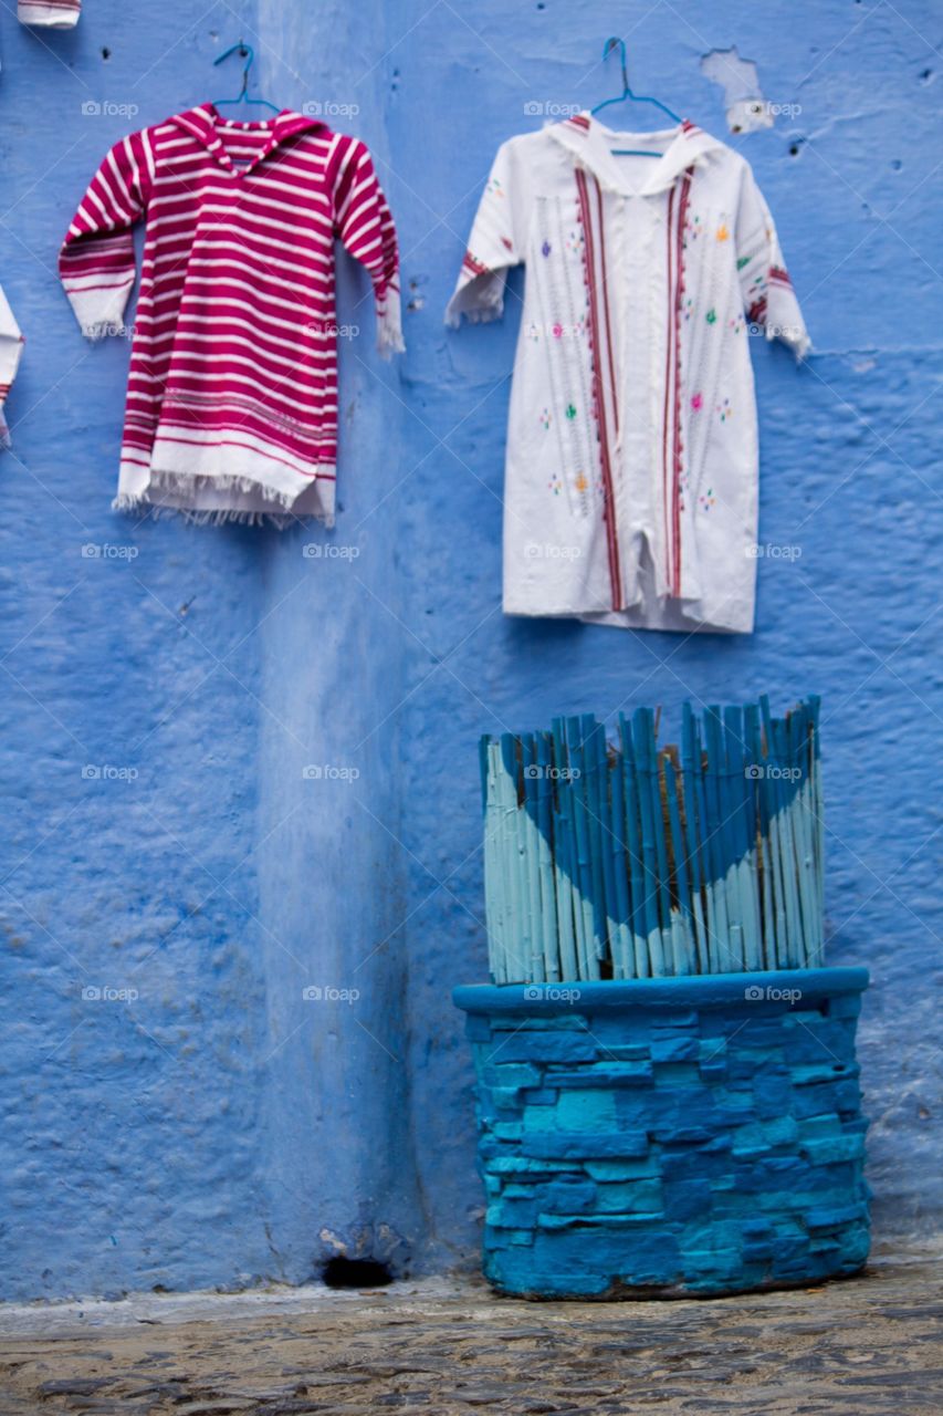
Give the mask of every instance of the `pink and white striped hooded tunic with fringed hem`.
<svg viewBox="0 0 943 1416">
<path fill-rule="evenodd" d="M 371 275 L 382 354 L 404 348 L 396 235 L 367 147 L 285 110 L 211 103 L 108 153 L 59 272 L 89 338 L 119 333 L 144 253 L 119 510 L 278 524 L 334 515 L 334 241 Z"/>
</svg>

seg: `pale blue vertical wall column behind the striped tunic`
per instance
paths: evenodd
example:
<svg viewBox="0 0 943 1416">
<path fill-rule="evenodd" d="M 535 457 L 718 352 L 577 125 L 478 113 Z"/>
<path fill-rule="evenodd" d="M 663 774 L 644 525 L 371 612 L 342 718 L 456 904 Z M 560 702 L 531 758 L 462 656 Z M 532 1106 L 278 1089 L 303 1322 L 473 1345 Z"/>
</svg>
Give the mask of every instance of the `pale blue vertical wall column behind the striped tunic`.
<svg viewBox="0 0 943 1416">
<path fill-rule="evenodd" d="M 259 4 L 259 84 L 279 106 L 364 137 L 385 167 L 379 0 Z M 362 37 L 371 35 L 370 45 Z M 320 105 L 320 108 L 314 108 Z M 334 531 L 266 541 L 259 752 L 261 925 L 269 1049 L 265 1175 L 276 1269 L 336 1253 L 408 1266 L 416 1221 L 405 1068 L 395 561 L 396 364 L 375 354 L 370 280 L 338 251 Z M 388 498 L 387 498 L 388 497 Z"/>
</svg>

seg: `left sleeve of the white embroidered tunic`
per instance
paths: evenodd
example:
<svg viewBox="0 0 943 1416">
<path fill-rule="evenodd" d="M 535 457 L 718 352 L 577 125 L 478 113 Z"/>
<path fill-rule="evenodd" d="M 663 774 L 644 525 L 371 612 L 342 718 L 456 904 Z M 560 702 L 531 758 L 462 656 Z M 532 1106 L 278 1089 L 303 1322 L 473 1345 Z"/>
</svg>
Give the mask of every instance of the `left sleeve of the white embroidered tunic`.
<svg viewBox="0 0 943 1416">
<path fill-rule="evenodd" d="M 467 320 L 497 320 L 504 313 L 504 285 L 510 266 L 524 259 L 524 193 L 514 140 L 503 143 L 491 166 L 469 245 L 462 259 L 459 283 L 446 309 L 446 324 Z"/>
</svg>

